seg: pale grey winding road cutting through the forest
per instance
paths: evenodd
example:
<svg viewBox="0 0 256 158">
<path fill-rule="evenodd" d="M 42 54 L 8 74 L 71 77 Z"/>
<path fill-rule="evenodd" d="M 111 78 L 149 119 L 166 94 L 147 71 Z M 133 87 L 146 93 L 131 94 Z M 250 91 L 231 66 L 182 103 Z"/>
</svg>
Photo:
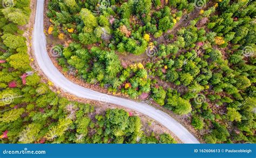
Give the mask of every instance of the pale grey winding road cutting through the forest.
<svg viewBox="0 0 256 158">
<path fill-rule="evenodd" d="M 44 0 L 37 0 L 36 19 L 33 30 L 33 50 L 38 66 L 49 80 L 57 87 L 62 88 L 63 91 L 76 95 L 80 98 L 106 101 L 110 104 L 123 106 L 125 108 L 133 109 L 150 118 L 158 121 L 161 125 L 170 129 L 183 143 L 200 143 L 188 130 L 179 122 L 171 118 L 170 115 L 144 103 L 131 101 L 128 99 L 113 97 L 72 83 L 64 77 L 62 73 L 53 65 L 48 52 L 46 50 L 46 39 L 44 35 L 43 14 Z"/>
</svg>

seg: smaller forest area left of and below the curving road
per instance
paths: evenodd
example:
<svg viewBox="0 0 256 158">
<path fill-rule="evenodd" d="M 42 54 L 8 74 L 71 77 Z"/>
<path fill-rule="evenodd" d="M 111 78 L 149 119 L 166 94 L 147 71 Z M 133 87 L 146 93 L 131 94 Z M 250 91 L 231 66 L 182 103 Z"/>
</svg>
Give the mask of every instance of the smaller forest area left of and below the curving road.
<svg viewBox="0 0 256 158">
<path fill-rule="evenodd" d="M 1 4 L 6 4 L 1 1 Z M 8 1 L 9 2 L 9 1 Z M 142 130 L 139 116 L 124 109 L 69 101 L 44 83 L 30 66 L 25 24 L 30 1 L 12 1 L 0 9 L 0 140 L 2 143 L 176 143 L 170 134 Z M 76 10 L 76 1 L 65 1 Z M 63 6 L 66 7 L 66 6 Z M 61 16 L 61 13 L 60 13 Z M 104 20 L 104 19 L 103 19 Z M 96 23 L 97 24 L 97 23 Z M 27 37 L 31 39 L 31 37 Z M 83 53 L 83 52 L 80 52 Z M 118 60 L 109 59 L 118 64 Z M 67 54 L 68 57 L 68 54 Z M 51 87 L 51 88 L 50 88 Z"/>
</svg>

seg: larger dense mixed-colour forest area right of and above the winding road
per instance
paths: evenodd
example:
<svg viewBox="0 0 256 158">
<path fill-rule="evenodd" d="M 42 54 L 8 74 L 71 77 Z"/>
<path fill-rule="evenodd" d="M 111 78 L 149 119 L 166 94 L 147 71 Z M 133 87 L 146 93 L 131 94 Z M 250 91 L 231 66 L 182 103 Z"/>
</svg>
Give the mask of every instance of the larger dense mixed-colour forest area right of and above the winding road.
<svg viewBox="0 0 256 158">
<path fill-rule="evenodd" d="M 184 115 L 207 143 L 255 142 L 255 5 L 50 1 L 49 37 L 86 83 Z"/>
</svg>

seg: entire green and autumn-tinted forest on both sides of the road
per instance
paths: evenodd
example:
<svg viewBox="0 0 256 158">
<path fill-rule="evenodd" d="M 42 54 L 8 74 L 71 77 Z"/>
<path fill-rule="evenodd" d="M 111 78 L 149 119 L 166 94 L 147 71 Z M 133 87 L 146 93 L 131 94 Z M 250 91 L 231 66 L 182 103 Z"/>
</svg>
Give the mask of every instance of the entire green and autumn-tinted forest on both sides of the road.
<svg viewBox="0 0 256 158">
<path fill-rule="evenodd" d="M 14 2 L 0 12 L 3 142 L 175 142 L 144 134 L 139 118 L 121 109 L 91 118 L 93 105 L 41 83 L 23 37 L 30 1 Z M 163 106 L 206 143 L 255 143 L 256 2 L 196 2 L 51 0 L 45 34 L 63 72 Z"/>
</svg>

